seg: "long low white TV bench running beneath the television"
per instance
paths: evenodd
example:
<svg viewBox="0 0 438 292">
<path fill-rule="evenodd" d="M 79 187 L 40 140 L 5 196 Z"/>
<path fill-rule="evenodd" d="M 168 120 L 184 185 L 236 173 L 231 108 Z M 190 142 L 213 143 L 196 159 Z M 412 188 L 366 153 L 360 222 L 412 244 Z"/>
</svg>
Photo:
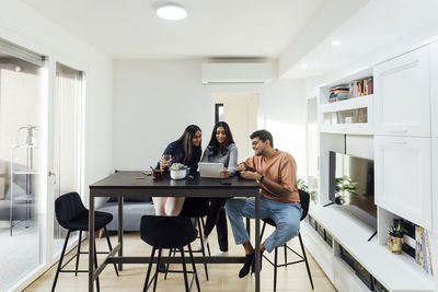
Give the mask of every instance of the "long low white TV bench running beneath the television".
<svg viewBox="0 0 438 292">
<path fill-rule="evenodd" d="M 337 289 L 369 291 L 339 257 L 336 248 L 342 245 L 390 291 L 435 291 L 433 277 L 426 275 L 412 257 L 405 254 L 393 255 L 376 236 L 368 242 L 373 231 L 354 217 L 339 211 L 336 206 L 312 205 L 309 214 L 318 219 L 333 235 L 332 249 L 309 224 L 301 224 L 306 247 Z M 344 272 L 339 271 L 339 267 Z M 339 272 L 341 278 L 336 277 Z"/>
</svg>

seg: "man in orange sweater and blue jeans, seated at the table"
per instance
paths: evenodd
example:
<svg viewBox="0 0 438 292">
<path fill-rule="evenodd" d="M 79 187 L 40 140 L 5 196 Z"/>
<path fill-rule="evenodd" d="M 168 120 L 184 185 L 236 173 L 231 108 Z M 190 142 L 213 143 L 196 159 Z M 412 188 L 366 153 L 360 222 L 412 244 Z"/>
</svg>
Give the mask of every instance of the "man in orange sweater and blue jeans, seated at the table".
<svg viewBox="0 0 438 292">
<path fill-rule="evenodd" d="M 245 179 L 254 179 L 261 184 L 260 218 L 270 218 L 276 230 L 261 244 L 261 253 L 270 253 L 300 230 L 302 209 L 297 187 L 297 165 L 293 157 L 274 149 L 273 136 L 267 130 L 258 130 L 250 136 L 255 155 L 238 164 L 237 171 Z M 230 199 L 226 205 L 228 219 L 234 235 L 235 244 L 245 249 L 245 262 L 239 272 L 243 278 L 254 271 L 254 248 L 247 236 L 243 217 L 255 218 L 254 199 Z"/>
</svg>

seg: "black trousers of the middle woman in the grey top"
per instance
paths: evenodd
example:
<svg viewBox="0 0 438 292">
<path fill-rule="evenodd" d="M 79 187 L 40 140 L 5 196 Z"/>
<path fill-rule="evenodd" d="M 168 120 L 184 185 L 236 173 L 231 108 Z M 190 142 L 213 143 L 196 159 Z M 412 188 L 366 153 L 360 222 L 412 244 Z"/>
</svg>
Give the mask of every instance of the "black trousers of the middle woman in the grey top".
<svg viewBox="0 0 438 292">
<path fill-rule="evenodd" d="M 208 207 L 207 213 L 207 222 L 204 230 L 204 234 L 208 236 L 216 225 L 219 248 L 221 252 L 228 252 L 228 225 L 227 214 L 223 208 L 228 199 L 229 198 L 210 198 L 210 206 Z"/>
</svg>

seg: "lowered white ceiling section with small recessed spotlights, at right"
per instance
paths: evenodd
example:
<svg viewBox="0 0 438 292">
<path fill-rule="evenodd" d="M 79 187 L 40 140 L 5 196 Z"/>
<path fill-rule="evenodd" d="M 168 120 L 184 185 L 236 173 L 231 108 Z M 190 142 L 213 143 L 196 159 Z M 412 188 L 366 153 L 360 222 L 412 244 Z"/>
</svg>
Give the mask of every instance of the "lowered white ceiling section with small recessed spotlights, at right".
<svg viewBox="0 0 438 292">
<path fill-rule="evenodd" d="M 437 0 L 371 0 L 283 72 L 285 79 L 370 66 L 438 35 Z M 333 39 L 342 40 L 332 46 Z M 302 68 L 302 65 L 308 68 Z"/>
</svg>

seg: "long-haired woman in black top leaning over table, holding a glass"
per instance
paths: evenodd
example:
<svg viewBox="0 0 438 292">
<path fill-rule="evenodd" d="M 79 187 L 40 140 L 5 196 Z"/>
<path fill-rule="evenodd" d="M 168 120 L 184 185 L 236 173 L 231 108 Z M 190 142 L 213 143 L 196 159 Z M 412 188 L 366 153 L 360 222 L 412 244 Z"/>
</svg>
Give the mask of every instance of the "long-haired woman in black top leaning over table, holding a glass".
<svg viewBox="0 0 438 292">
<path fill-rule="evenodd" d="M 191 173 L 195 173 L 201 154 L 200 142 L 200 128 L 196 125 L 191 125 L 185 128 L 180 139 L 165 148 L 163 155 L 171 154 L 172 163 L 182 163 L 191 167 Z M 165 162 L 162 157 L 160 159 L 159 167 L 162 170 L 165 167 Z M 157 215 L 178 215 L 185 197 L 152 197 L 152 200 Z"/>
</svg>

